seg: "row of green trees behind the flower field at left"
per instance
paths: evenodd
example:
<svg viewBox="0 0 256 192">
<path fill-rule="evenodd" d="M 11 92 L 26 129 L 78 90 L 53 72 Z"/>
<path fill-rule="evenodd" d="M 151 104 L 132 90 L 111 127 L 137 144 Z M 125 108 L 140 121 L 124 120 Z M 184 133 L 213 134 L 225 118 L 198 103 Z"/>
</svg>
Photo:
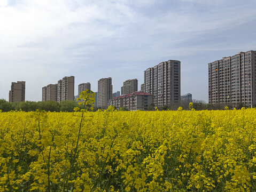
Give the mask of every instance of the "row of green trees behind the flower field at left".
<svg viewBox="0 0 256 192">
<path fill-rule="evenodd" d="M 10 110 L 22 110 L 22 111 L 35 111 L 41 109 L 45 111 L 67 111 L 72 112 L 75 107 L 81 107 L 76 101 L 25 101 L 25 102 L 8 102 L 4 99 L 0 99 L 0 109 L 3 112 Z M 88 106 L 89 110 L 90 106 Z M 96 110 L 96 109 L 95 109 Z"/>
</svg>

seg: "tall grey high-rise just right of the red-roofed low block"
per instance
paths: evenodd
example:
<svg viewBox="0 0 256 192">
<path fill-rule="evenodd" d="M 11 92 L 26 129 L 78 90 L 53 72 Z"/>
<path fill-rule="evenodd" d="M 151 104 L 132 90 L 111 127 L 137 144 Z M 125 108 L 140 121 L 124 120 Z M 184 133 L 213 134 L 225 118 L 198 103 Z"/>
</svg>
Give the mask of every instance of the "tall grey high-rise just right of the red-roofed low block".
<svg viewBox="0 0 256 192">
<path fill-rule="evenodd" d="M 181 98 L 181 62 L 168 60 L 144 71 L 145 92 L 153 95 L 155 106 L 179 103 Z"/>
</svg>

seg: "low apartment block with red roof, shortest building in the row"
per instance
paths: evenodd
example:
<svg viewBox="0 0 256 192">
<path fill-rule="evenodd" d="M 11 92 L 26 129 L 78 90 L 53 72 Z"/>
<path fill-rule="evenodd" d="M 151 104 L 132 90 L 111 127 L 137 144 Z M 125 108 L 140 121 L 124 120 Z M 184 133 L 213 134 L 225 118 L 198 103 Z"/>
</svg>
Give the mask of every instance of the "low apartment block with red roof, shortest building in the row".
<svg viewBox="0 0 256 192">
<path fill-rule="evenodd" d="M 153 103 L 153 95 L 145 92 L 134 92 L 114 97 L 108 102 L 108 106 L 114 106 L 117 109 L 126 108 L 128 110 L 148 110 Z"/>
</svg>

